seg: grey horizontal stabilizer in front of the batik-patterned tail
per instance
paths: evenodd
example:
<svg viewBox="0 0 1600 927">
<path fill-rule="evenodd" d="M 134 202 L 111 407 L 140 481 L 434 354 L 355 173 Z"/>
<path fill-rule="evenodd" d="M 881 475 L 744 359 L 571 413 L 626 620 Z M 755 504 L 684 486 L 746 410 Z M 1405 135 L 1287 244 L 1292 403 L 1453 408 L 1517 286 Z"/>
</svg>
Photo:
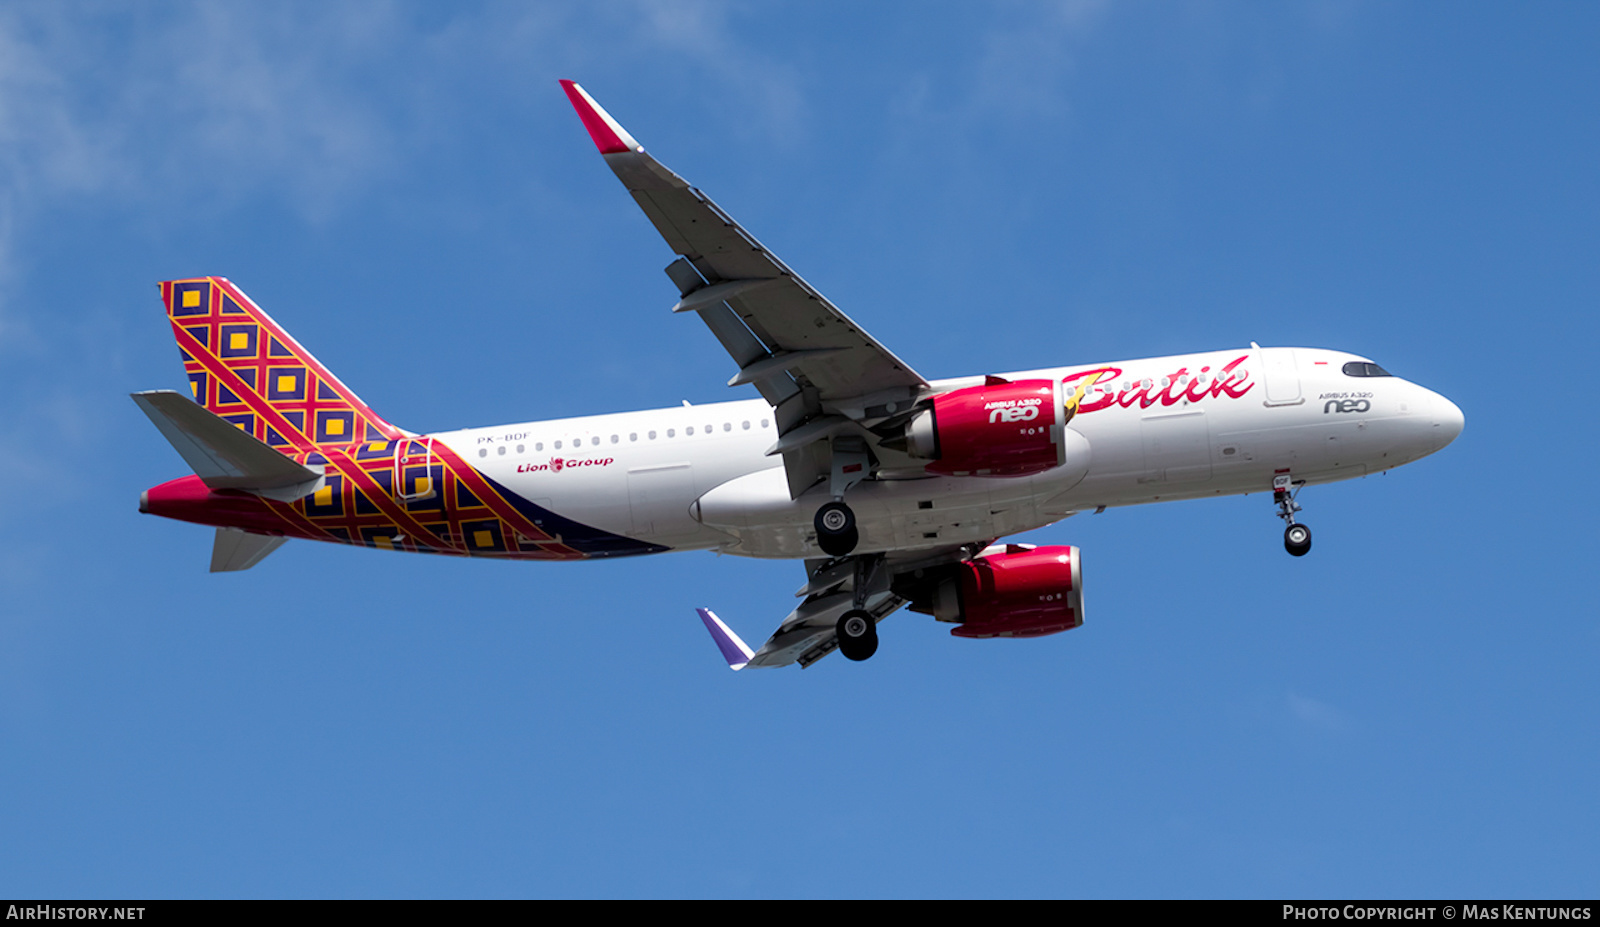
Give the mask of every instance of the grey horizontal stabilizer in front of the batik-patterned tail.
<svg viewBox="0 0 1600 927">
<path fill-rule="evenodd" d="M 309 495 L 322 480 L 320 472 L 272 450 L 261 439 L 240 431 L 181 392 L 170 389 L 134 392 L 133 400 L 150 416 L 195 476 L 213 490 L 246 490 L 278 501 L 293 501 Z"/>
</svg>

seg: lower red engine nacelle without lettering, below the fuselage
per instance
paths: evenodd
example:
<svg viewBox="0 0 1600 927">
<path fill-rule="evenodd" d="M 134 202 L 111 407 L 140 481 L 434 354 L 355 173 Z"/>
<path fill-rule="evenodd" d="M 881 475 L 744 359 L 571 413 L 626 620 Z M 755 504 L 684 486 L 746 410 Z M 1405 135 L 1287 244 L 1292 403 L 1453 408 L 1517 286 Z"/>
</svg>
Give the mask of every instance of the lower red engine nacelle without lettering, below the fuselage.
<svg viewBox="0 0 1600 927">
<path fill-rule="evenodd" d="M 933 616 L 960 621 L 957 637 L 1043 637 L 1083 624 L 1083 560 L 1077 548 L 1008 544 L 974 557 L 933 592 Z"/>
</svg>

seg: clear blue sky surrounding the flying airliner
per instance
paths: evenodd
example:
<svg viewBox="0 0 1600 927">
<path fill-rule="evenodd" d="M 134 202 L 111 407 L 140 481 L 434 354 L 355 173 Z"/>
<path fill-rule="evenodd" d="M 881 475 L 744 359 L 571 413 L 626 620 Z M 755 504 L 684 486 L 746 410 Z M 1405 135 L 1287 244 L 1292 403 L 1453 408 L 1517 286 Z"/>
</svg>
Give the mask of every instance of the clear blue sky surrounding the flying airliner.
<svg viewBox="0 0 1600 927">
<path fill-rule="evenodd" d="M 0 897 L 1594 897 L 1600 8 L 0 8 Z M 794 564 L 206 573 L 158 280 L 389 419 L 746 395 L 579 80 L 928 376 L 1262 344 L 1466 411 L 1080 516 L 1086 624 L 728 672 Z M 747 389 L 747 387 L 746 387 Z M 750 392 L 754 395 L 754 392 Z"/>
</svg>

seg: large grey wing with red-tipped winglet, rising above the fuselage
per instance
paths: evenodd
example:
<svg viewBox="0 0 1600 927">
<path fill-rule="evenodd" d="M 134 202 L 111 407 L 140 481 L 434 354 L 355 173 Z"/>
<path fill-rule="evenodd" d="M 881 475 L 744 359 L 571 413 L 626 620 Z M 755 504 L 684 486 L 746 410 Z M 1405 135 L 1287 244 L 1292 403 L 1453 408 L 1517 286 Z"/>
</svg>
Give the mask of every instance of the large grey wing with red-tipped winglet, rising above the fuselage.
<svg viewBox="0 0 1600 927">
<path fill-rule="evenodd" d="M 739 365 L 728 386 L 754 384 L 776 410 L 790 493 L 826 464 L 810 445 L 864 419 L 906 410 L 930 386 L 837 306 L 762 247 L 717 203 L 650 157 L 584 88 L 563 80 L 568 99 L 600 154 L 667 245 L 680 255 L 667 275 Z"/>
</svg>

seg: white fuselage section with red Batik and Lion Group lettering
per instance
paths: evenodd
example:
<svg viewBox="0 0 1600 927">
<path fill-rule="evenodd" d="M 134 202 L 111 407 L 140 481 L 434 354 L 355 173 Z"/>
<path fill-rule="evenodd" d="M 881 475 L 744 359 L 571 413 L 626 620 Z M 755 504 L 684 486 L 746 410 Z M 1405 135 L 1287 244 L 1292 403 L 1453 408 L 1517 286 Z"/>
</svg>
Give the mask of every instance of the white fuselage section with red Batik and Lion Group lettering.
<svg viewBox="0 0 1600 927">
<path fill-rule="evenodd" d="M 1102 371 L 1066 432 L 1066 464 L 1026 477 L 883 471 L 848 493 L 859 551 L 989 541 L 1099 506 L 1266 492 L 1275 474 L 1330 482 L 1450 443 L 1461 411 L 1397 376 L 1352 376 L 1362 357 L 1250 347 L 1003 375 L 1070 392 Z M 1219 383 L 1219 373 L 1221 383 Z M 981 378 L 938 381 L 939 391 Z M 790 498 L 765 400 L 474 427 L 432 435 L 558 516 L 675 549 L 818 557 L 826 480 Z"/>
</svg>

